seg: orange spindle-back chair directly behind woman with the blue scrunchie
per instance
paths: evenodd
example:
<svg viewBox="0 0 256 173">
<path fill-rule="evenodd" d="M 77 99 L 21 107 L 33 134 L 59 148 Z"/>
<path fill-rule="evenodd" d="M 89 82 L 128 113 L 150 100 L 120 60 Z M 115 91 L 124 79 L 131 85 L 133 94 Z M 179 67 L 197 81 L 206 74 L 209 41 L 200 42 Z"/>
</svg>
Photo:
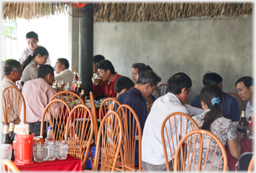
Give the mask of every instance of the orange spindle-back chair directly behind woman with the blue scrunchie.
<svg viewBox="0 0 256 173">
<path fill-rule="evenodd" d="M 183 143 L 185 142 L 185 146 Z M 220 160 L 216 153 L 221 153 Z M 198 156 L 196 156 L 198 154 Z M 213 165 L 214 163 L 214 165 Z M 223 165 L 223 170 L 219 170 Z M 227 171 L 228 156 L 220 139 L 210 131 L 190 131 L 175 152 L 174 171 Z"/>
</svg>

